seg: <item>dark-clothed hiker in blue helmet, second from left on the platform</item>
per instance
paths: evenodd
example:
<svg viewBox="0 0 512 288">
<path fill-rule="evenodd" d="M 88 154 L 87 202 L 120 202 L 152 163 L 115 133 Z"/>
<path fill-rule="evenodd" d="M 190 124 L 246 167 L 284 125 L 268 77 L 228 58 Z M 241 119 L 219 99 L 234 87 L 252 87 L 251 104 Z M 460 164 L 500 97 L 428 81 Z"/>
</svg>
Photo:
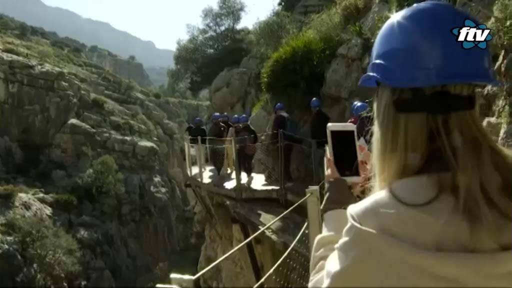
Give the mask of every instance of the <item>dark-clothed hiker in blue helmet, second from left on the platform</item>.
<svg viewBox="0 0 512 288">
<path fill-rule="evenodd" d="M 208 137 L 210 137 L 208 144 L 210 145 L 210 160 L 214 164 L 217 174 L 220 176 L 222 167 L 224 166 L 224 143 L 226 138 L 226 126 L 221 123 L 221 114 L 214 113 L 211 117 L 213 124 L 208 130 Z"/>
</svg>

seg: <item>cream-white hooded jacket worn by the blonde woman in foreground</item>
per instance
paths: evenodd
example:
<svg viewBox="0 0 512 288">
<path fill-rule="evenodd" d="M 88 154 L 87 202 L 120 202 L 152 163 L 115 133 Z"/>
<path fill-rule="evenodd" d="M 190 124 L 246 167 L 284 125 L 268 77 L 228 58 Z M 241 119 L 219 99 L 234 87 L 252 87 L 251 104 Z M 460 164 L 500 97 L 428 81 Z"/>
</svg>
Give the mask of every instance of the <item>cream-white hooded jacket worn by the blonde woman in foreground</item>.
<svg viewBox="0 0 512 288">
<path fill-rule="evenodd" d="M 326 213 L 309 286 L 512 286 L 512 221 L 497 216 L 495 241 L 470 234 L 449 193 L 420 207 L 401 203 L 434 199 L 439 182 L 402 179 L 392 185 L 395 196 L 381 191 Z"/>
</svg>

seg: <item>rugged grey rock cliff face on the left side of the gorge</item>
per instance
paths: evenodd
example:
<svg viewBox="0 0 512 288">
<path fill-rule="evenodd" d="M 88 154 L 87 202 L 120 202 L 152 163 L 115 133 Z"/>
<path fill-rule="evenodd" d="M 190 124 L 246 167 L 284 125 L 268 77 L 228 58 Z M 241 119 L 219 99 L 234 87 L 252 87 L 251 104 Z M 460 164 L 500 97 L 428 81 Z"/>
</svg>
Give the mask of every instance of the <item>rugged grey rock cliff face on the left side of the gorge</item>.
<svg viewBox="0 0 512 288">
<path fill-rule="evenodd" d="M 184 193 L 180 131 L 188 113 L 206 106 L 150 97 L 103 70 L 74 71 L 0 52 L 1 185 L 22 189 L 14 204 L 0 199 L 0 223 L 9 215 L 46 217 L 71 235 L 80 272 L 68 284 L 147 285 L 156 271 L 194 271 L 202 236 Z M 120 189 L 83 196 L 81 179 L 105 155 Z M 76 205 L 55 205 L 62 196 Z M 35 285 L 40 268 L 27 268 L 9 239 L 0 236 L 0 267 L 18 262 L 0 278 Z"/>
</svg>

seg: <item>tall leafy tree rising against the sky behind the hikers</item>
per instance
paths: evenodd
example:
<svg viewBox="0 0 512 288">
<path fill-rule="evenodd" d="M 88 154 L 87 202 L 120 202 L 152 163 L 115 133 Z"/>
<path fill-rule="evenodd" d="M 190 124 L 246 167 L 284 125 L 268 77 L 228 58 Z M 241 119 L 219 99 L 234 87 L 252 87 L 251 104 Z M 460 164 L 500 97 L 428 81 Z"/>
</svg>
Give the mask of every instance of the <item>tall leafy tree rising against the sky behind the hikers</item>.
<svg viewBox="0 0 512 288">
<path fill-rule="evenodd" d="M 175 68 L 168 75 L 170 95 L 199 92 L 226 67 L 239 65 L 249 50 L 247 31 L 238 29 L 245 12 L 241 0 L 219 0 L 202 11 L 202 25 L 187 25 L 188 39 L 180 40 L 174 54 Z"/>
</svg>

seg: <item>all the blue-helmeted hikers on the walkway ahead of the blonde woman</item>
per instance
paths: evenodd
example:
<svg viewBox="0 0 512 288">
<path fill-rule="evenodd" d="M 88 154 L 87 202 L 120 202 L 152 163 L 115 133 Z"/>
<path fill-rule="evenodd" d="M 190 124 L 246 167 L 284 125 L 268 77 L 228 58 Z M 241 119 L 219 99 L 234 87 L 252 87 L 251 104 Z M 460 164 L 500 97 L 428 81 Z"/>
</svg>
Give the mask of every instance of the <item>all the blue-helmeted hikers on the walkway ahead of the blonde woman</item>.
<svg viewBox="0 0 512 288">
<path fill-rule="evenodd" d="M 327 124 L 330 117 L 322 110 L 322 102 L 319 98 L 313 98 L 310 102 L 312 110 L 311 123 L 310 123 L 310 140 L 315 143 L 315 169 L 317 175 L 323 175 L 325 147 L 327 145 Z M 357 126 L 357 133 L 359 138 L 365 139 L 365 142 L 370 141 L 371 133 L 370 125 L 371 118 L 369 105 L 366 102 L 355 101 L 352 105 L 352 117 L 349 122 Z M 275 147 L 280 145 L 279 135 L 281 133 L 282 153 L 283 153 L 283 176 L 285 183 L 292 182 L 291 175 L 291 155 L 293 147 L 297 144 L 302 144 L 304 139 L 297 137 L 297 133 L 292 128 L 293 120 L 286 112 L 286 107 L 282 103 L 274 106 L 274 119 L 272 122 L 272 133 L 270 137 L 271 143 Z M 240 170 L 247 174 L 247 185 L 252 183 L 252 161 L 257 148 L 258 135 L 249 124 L 249 117 L 247 115 L 234 115 L 229 117 L 227 113 L 220 114 L 214 113 L 211 116 L 211 126 L 206 132 L 203 128 L 203 120 L 196 118 L 194 125 L 187 127 L 188 135 L 190 136 L 190 143 L 197 144 L 198 137 L 202 138 L 202 144 L 208 145 L 209 155 L 212 165 L 217 171 L 218 176 L 222 173 L 230 174 L 234 172 L 233 162 L 233 148 L 232 139 L 234 138 L 238 164 Z M 208 138 L 208 141 L 206 141 Z M 203 157 L 204 155 L 200 155 Z M 316 179 L 315 179 L 316 181 Z"/>
</svg>

